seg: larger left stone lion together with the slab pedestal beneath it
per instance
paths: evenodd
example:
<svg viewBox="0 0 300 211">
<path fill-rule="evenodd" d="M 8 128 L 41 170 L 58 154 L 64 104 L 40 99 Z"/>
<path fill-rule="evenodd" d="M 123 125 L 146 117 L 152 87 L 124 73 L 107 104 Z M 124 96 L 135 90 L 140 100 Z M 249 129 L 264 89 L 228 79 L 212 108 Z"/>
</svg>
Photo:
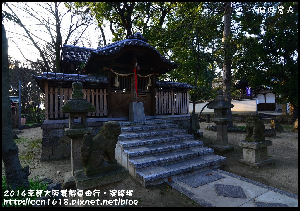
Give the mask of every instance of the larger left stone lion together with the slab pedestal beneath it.
<svg viewBox="0 0 300 211">
<path fill-rule="evenodd" d="M 91 139 L 87 134 L 82 138 L 81 162 L 83 169 L 74 171 L 77 189 L 84 192 L 92 188 L 101 190 L 102 185 L 119 182 L 129 178 L 126 168 L 115 158 L 121 127 L 119 122 L 105 122 L 99 133 Z M 80 200 L 97 200 L 97 195 L 86 196 Z"/>
</svg>

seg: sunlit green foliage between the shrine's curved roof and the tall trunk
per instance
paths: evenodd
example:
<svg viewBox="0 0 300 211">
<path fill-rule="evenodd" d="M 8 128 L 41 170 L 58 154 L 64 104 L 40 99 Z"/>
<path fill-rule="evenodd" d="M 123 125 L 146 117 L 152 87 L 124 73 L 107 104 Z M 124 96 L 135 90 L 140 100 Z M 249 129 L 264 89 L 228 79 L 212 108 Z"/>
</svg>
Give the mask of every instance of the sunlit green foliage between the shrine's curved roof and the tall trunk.
<svg viewBox="0 0 300 211">
<path fill-rule="evenodd" d="M 166 27 L 160 29 L 163 41 L 157 41 L 157 48 L 169 53 L 179 67 L 165 77 L 195 86 L 190 92 L 194 103 L 209 98 L 215 76 L 212 49 L 219 36 L 220 16 L 205 10 L 203 3 L 180 2 L 166 20 Z"/>
</svg>

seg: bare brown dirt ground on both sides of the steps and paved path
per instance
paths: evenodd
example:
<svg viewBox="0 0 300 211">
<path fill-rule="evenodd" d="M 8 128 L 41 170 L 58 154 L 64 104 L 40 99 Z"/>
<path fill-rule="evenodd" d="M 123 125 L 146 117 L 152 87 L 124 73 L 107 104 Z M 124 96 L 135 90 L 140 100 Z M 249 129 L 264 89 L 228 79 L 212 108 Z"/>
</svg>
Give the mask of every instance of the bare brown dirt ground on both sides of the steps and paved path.
<svg viewBox="0 0 300 211">
<path fill-rule="evenodd" d="M 215 124 L 205 122 L 200 122 L 199 124 L 200 131 L 204 134 L 204 137 L 200 139 L 204 142 L 204 146 L 210 147 L 216 144 L 216 131 L 206 130 L 208 125 Z M 245 126 L 245 123 L 234 122 L 234 125 Z M 228 132 L 228 144 L 234 146 L 234 151 L 227 154 L 215 152 L 217 155 L 226 157 L 226 163 L 219 169 L 283 191 L 298 194 L 298 133 L 290 132 L 290 129 L 288 129 L 291 128 L 290 125 L 282 126 L 286 130 L 285 133 L 277 132 L 275 137 L 266 137 L 267 140 L 272 141 L 272 146 L 268 147 L 268 155 L 274 161 L 262 167 L 251 167 L 238 161 L 243 158 L 243 150 L 238 146 L 238 141 L 244 140 L 245 133 Z M 265 128 L 270 128 L 270 124 L 265 123 Z M 18 137 L 19 139 L 15 141 L 19 147 L 20 163 L 22 166 L 29 165 L 32 171 L 29 178 L 35 178 L 36 175 L 44 175 L 53 179 L 53 182 L 60 182 L 62 188 L 64 188 L 64 173 L 71 171 L 71 160 L 39 161 L 42 143 L 41 128 L 21 130 Z M 4 175 L 3 163 L 2 175 Z M 164 184 L 143 188 L 131 176 L 122 182 L 105 185 L 102 188 L 103 192 L 109 192 L 109 190 L 113 189 L 133 190 L 132 199 L 138 201 L 137 206 L 200 206 L 179 191 Z"/>
</svg>

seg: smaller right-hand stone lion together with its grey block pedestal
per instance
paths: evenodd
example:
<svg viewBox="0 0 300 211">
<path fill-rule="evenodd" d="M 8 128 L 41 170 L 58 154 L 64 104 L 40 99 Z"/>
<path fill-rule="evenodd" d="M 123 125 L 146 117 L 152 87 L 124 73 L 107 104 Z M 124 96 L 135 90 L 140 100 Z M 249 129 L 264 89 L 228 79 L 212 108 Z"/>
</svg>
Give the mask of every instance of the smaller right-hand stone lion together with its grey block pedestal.
<svg viewBox="0 0 300 211">
<path fill-rule="evenodd" d="M 265 125 L 259 119 L 258 114 L 246 116 L 247 135 L 244 141 L 239 141 L 238 146 L 243 147 L 244 159 L 239 161 L 251 166 L 262 166 L 271 163 L 268 159 L 268 146 L 272 145 L 271 140 L 265 140 Z"/>
</svg>

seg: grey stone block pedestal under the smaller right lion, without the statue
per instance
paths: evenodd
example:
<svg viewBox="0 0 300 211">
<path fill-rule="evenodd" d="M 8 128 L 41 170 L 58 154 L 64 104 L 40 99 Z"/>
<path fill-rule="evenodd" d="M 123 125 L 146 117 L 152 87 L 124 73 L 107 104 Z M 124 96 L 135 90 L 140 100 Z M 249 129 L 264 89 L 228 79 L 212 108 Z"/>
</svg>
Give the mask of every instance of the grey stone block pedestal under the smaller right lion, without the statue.
<svg viewBox="0 0 300 211">
<path fill-rule="evenodd" d="M 268 159 L 268 146 L 271 145 L 271 140 L 259 142 L 239 141 L 238 146 L 242 146 L 244 152 L 244 159 L 239 161 L 250 166 L 262 166 L 271 163 L 273 159 Z"/>
</svg>

